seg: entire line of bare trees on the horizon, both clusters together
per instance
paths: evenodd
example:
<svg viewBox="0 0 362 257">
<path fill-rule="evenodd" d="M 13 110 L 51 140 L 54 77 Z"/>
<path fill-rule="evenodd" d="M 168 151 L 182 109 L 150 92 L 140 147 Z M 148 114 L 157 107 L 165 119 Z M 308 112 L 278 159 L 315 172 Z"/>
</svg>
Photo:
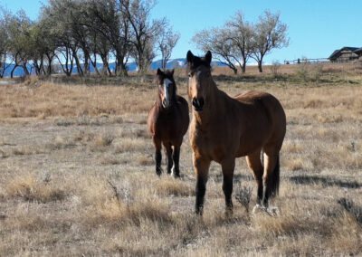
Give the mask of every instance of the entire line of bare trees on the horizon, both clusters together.
<svg viewBox="0 0 362 257">
<path fill-rule="evenodd" d="M 156 1 L 47 0 L 36 21 L 24 10 L 13 14 L 0 6 L 0 78 L 9 67 L 11 77 L 17 67 L 25 75 L 32 72 L 29 67 L 38 75 L 50 75 L 57 67 L 67 76 L 74 69 L 86 76 L 90 66 L 99 75 L 127 76 L 130 59 L 138 72 L 145 72 L 157 54 L 166 68 L 180 34 L 166 17 L 151 19 Z M 264 56 L 288 45 L 286 32 L 279 13 L 264 11 L 252 24 L 239 11 L 222 26 L 195 33 L 192 41 L 234 73 L 237 66 L 245 72 L 250 58 L 262 72 Z M 110 60 L 115 62 L 113 71 Z"/>
</svg>

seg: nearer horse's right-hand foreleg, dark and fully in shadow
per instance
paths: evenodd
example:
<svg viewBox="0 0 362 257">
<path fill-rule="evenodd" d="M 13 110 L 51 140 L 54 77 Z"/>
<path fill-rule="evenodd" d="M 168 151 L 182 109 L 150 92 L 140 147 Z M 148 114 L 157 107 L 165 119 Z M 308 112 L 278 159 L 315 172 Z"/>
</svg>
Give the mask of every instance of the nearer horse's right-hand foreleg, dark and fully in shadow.
<svg viewBox="0 0 362 257">
<path fill-rule="evenodd" d="M 222 163 L 223 169 L 223 191 L 225 195 L 226 214 L 233 213 L 233 170 L 235 160 L 225 161 Z"/>
</svg>

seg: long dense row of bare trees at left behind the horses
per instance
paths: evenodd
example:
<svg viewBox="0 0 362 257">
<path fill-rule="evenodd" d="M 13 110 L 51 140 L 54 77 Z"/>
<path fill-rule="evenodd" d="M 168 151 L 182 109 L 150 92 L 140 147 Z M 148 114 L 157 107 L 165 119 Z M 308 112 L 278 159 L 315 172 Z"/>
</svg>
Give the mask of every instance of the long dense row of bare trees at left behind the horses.
<svg viewBox="0 0 362 257">
<path fill-rule="evenodd" d="M 11 64 L 12 77 L 16 67 L 30 74 L 29 64 L 38 75 L 52 74 L 56 64 L 68 76 L 73 67 L 89 75 L 90 65 L 100 75 L 127 76 L 130 58 L 145 72 L 157 53 L 165 68 L 180 34 L 166 17 L 151 19 L 155 5 L 156 0 L 48 0 L 36 21 L 24 10 L 1 8 L 0 77 Z"/>
</svg>

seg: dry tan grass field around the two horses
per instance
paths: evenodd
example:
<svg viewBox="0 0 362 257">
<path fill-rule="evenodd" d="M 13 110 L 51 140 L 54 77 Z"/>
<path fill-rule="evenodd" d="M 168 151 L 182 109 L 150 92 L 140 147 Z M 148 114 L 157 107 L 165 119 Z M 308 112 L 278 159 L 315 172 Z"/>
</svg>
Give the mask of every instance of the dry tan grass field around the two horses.
<svg viewBox="0 0 362 257">
<path fill-rule="evenodd" d="M 252 214 L 256 184 L 240 158 L 234 193 L 252 188 L 250 208 L 233 199 L 224 215 L 213 164 L 204 216 L 195 216 L 187 135 L 181 179 L 156 176 L 151 75 L 1 84 L 0 256 L 362 254 L 362 67 L 264 70 L 213 73 L 230 95 L 266 90 L 286 111 L 276 215 Z M 185 71 L 176 75 L 186 96 Z"/>
</svg>

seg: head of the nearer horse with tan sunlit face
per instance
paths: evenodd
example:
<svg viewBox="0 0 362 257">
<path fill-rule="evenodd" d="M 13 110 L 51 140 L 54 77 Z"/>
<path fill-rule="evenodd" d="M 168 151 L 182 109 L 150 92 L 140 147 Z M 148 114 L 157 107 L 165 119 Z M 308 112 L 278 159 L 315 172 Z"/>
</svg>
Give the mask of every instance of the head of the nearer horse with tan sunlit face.
<svg viewBox="0 0 362 257">
<path fill-rule="evenodd" d="M 205 107 L 207 95 L 211 90 L 211 52 L 206 52 L 204 57 L 197 57 L 191 51 L 187 52 L 188 67 L 188 96 L 196 111 L 202 111 Z"/>
</svg>

